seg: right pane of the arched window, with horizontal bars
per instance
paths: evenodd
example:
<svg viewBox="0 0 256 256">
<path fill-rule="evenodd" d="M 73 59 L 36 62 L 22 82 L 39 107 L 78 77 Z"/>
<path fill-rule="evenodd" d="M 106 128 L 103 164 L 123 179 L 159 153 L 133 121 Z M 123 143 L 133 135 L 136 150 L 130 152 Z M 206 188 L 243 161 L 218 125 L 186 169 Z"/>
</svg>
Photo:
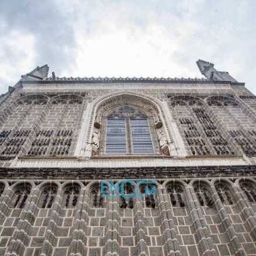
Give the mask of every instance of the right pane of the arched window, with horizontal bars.
<svg viewBox="0 0 256 256">
<path fill-rule="evenodd" d="M 153 154 L 148 120 L 145 117 L 131 118 L 132 146 L 134 154 Z"/>
</svg>

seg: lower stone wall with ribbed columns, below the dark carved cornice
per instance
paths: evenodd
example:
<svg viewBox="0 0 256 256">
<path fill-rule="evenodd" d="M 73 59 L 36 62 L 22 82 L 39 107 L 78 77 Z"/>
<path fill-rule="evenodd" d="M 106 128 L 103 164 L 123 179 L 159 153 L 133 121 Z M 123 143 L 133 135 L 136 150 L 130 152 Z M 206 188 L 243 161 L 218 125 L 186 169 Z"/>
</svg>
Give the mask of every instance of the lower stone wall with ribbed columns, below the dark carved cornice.
<svg viewBox="0 0 256 256">
<path fill-rule="evenodd" d="M 100 181 L 2 181 L 0 253 L 256 254 L 255 178 L 156 181 L 156 197 L 129 200 L 101 197 Z"/>
</svg>

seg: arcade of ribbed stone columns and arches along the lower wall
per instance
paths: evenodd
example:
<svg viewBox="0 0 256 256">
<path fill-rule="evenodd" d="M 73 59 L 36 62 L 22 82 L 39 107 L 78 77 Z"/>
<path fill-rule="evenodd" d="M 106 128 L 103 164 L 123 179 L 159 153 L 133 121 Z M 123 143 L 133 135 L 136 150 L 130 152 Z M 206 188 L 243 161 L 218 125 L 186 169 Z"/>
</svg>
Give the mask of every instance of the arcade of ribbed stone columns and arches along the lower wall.
<svg viewBox="0 0 256 256">
<path fill-rule="evenodd" d="M 40 205 L 40 201 L 43 202 L 45 195 L 43 191 L 47 191 L 49 187 L 50 191 L 54 191 L 56 196 L 52 201 L 52 212 L 41 247 L 41 255 L 51 255 L 54 247 L 57 247 L 57 223 L 61 218 L 62 209 L 65 208 L 63 198 L 65 193 L 68 193 L 67 191 L 71 195 L 78 195 L 68 255 L 86 255 L 87 251 L 90 250 L 86 244 L 90 233 L 88 230 L 91 228 L 89 220 L 93 214 L 92 194 L 99 189 L 99 181 L 92 181 L 86 186 L 79 181 L 66 181 L 63 184 L 58 181 L 51 181 L 51 183 L 45 181 L 37 186 L 33 182 L 17 181 L 11 187 L 8 187 L 8 183 L 2 182 L 3 187 L 5 187 L 5 190 L 3 190 L 0 198 L 1 223 L 10 212 L 9 205 L 16 201 L 14 200 L 15 192 L 22 190 L 22 188 L 24 188 L 23 191 L 27 191 L 27 188 L 31 191 L 27 197 L 26 204 L 24 204 L 22 219 L 17 224 L 5 255 L 23 255 L 31 239 L 31 227 L 34 225 L 40 208 L 38 205 Z M 52 187 L 54 187 L 54 190 L 51 189 Z M 243 241 L 240 240 L 239 235 L 236 233 L 232 219 L 229 216 L 229 212 L 226 212 L 224 205 L 236 207 L 237 215 L 240 215 L 241 220 L 243 220 L 240 225 L 245 227 L 248 236 L 255 242 L 256 216 L 255 208 L 253 209 L 252 207 L 255 202 L 251 201 L 247 195 L 248 191 L 254 191 L 255 188 L 256 181 L 253 178 L 237 178 L 234 183 L 227 178 L 214 178 L 213 180 L 195 178 L 189 184 L 181 179 L 169 179 L 164 181 L 163 184 L 157 183 L 156 208 L 154 211 L 158 213 L 155 220 L 158 224 L 155 223 L 155 225 L 158 225 L 162 230 L 160 236 L 164 240 L 162 244 L 164 247 L 163 255 L 183 255 L 183 247 L 186 246 L 186 244 L 182 246 L 178 242 L 180 241 L 178 236 L 181 235 L 177 233 L 178 224 L 174 222 L 177 216 L 174 216 L 175 214 L 172 211 L 177 206 L 186 208 L 189 213 L 189 218 L 191 218 L 190 229 L 195 230 L 195 246 L 197 246 L 199 254 L 219 255 L 212 240 L 211 230 L 206 224 L 207 221 L 204 214 L 205 211 L 202 209 L 201 199 L 198 197 L 198 193 L 201 192 L 206 193 L 204 200 L 205 204 L 207 203 L 207 207 L 212 207 L 216 216 L 220 219 L 220 223 L 215 223 L 215 225 L 221 225 L 222 229 L 226 230 L 225 235 L 230 241 L 228 244 L 230 253 L 232 255 L 247 255 L 242 246 Z M 227 201 L 223 201 L 220 190 L 225 192 Z M 173 195 L 180 195 L 178 196 L 180 205 L 174 204 Z M 132 250 L 136 255 L 149 255 L 150 240 L 145 224 L 147 223 L 147 217 L 143 215 L 143 208 L 146 207 L 145 199 L 134 197 L 134 201 L 133 209 L 122 209 L 120 208 L 120 199 L 118 197 L 106 199 L 104 204 L 106 212 L 102 217 L 104 218 L 102 223 L 107 226 L 107 230 L 100 243 L 103 255 L 128 255 L 125 254 L 125 252 L 127 253 L 126 248 L 120 246 L 118 242 L 121 239 L 118 231 L 122 229 L 121 212 L 123 211 L 134 211 L 135 226 L 133 227 L 133 233 L 135 234 L 135 241 L 138 241 L 138 243 L 134 244 Z M 212 201 L 212 203 L 208 204 L 209 201 Z"/>
</svg>

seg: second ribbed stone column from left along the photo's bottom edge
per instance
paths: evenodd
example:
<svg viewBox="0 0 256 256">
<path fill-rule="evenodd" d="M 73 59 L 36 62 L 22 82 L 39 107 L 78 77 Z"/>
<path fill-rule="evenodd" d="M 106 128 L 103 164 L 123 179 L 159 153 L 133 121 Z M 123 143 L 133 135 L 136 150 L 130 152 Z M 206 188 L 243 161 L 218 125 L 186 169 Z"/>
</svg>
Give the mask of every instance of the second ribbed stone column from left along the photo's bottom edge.
<svg viewBox="0 0 256 256">
<path fill-rule="evenodd" d="M 59 219 L 59 212 L 61 211 L 63 192 L 59 188 L 55 200 L 52 204 L 52 211 L 49 218 L 48 225 L 44 236 L 43 246 L 41 247 L 41 256 L 51 255 L 53 248 L 57 247 L 58 238 L 55 237 L 55 230 L 58 228 L 57 222 Z"/>
</svg>

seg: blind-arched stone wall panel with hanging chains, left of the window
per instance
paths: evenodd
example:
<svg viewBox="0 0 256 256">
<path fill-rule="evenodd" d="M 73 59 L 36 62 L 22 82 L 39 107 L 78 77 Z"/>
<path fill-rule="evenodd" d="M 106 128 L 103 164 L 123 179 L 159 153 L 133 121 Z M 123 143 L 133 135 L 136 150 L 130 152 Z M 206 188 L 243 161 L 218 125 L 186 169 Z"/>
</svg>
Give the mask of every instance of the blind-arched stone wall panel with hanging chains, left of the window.
<svg viewBox="0 0 256 256">
<path fill-rule="evenodd" d="M 0 133 L 0 159 L 72 155 L 82 103 L 83 97 L 75 94 L 20 97 Z"/>
</svg>

